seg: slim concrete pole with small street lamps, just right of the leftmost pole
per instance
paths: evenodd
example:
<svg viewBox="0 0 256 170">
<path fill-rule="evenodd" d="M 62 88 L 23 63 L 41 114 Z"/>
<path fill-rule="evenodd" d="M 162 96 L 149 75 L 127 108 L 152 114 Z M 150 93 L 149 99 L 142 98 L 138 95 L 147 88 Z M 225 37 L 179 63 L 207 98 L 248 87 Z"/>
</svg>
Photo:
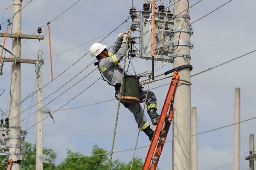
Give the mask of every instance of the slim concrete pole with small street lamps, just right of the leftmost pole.
<svg viewBox="0 0 256 170">
<path fill-rule="evenodd" d="M 42 55 L 38 56 L 38 60 L 41 61 Z M 38 67 L 41 67 L 40 65 Z M 36 149 L 35 149 L 35 169 L 36 170 L 42 170 L 43 169 L 43 163 L 39 159 L 39 155 L 43 154 L 43 122 L 42 122 L 42 114 L 39 112 L 39 110 L 42 108 L 42 68 L 39 68 L 39 74 L 38 74 L 38 94 L 37 94 L 37 143 L 36 143 Z"/>
</svg>

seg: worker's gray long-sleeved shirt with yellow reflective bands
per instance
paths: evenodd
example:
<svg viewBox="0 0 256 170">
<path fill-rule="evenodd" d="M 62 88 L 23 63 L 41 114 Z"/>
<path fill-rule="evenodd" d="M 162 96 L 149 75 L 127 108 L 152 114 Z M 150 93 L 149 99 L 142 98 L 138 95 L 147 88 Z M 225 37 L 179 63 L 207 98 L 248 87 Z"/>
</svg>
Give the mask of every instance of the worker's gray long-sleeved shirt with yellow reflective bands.
<svg viewBox="0 0 256 170">
<path fill-rule="evenodd" d="M 106 80 L 112 85 L 120 85 L 122 80 L 122 68 L 118 63 L 122 60 L 126 53 L 126 43 L 122 43 L 120 38 L 117 38 L 113 48 L 109 52 L 109 57 L 99 60 L 99 69 Z"/>
</svg>

